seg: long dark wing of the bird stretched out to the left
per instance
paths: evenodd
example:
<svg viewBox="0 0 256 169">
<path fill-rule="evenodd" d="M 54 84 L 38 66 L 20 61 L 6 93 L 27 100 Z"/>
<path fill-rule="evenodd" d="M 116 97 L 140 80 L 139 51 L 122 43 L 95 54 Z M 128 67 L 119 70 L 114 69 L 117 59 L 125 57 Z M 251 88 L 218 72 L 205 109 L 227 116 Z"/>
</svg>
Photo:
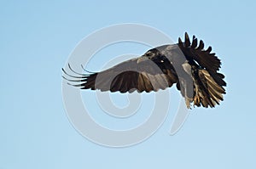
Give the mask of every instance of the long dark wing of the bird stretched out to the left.
<svg viewBox="0 0 256 169">
<path fill-rule="evenodd" d="M 70 70 L 72 68 L 69 65 Z M 63 69 L 62 69 L 63 70 Z M 72 70 L 75 73 L 74 70 Z M 67 73 L 65 79 L 75 87 L 81 89 L 90 88 L 92 90 L 99 89 L 101 91 L 111 91 L 120 93 L 132 93 L 137 90 L 138 93 L 158 91 L 171 87 L 177 82 L 177 75 L 172 65 L 162 65 L 159 67 L 150 59 L 138 62 L 137 59 L 130 59 L 115 65 L 108 70 L 103 70 L 91 74 L 78 74 L 75 76 Z"/>
</svg>

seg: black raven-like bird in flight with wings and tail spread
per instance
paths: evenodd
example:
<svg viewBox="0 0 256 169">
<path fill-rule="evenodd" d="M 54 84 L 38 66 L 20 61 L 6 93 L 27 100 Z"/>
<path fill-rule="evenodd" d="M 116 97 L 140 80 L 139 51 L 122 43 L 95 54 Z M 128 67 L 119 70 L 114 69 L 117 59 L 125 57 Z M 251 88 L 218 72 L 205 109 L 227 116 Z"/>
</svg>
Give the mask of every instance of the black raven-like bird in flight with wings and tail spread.
<svg viewBox="0 0 256 169">
<path fill-rule="evenodd" d="M 190 42 L 185 32 L 184 42 L 178 38 L 176 44 L 149 49 L 138 58 L 100 72 L 80 74 L 68 64 L 76 75 L 62 68 L 63 78 L 81 89 L 120 93 L 157 92 L 176 83 L 189 109 L 191 104 L 212 108 L 224 100 L 226 82 L 218 72 L 221 61 L 211 52 L 212 47 L 204 49 L 204 42 L 195 36 Z"/>
</svg>

